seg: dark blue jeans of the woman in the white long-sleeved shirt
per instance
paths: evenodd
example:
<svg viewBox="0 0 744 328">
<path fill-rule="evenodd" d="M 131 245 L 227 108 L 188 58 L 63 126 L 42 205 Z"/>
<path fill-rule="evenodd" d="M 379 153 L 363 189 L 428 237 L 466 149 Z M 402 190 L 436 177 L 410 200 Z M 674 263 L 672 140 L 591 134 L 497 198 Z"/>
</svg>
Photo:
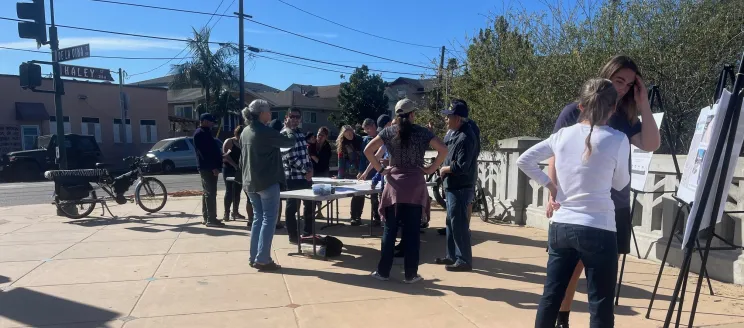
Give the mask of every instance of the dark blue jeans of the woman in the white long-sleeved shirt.
<svg viewBox="0 0 744 328">
<path fill-rule="evenodd" d="M 584 263 L 589 294 L 589 325 L 614 327 L 617 234 L 613 231 L 552 222 L 548 230 L 548 268 L 535 328 L 553 328 L 576 264 Z"/>
</svg>

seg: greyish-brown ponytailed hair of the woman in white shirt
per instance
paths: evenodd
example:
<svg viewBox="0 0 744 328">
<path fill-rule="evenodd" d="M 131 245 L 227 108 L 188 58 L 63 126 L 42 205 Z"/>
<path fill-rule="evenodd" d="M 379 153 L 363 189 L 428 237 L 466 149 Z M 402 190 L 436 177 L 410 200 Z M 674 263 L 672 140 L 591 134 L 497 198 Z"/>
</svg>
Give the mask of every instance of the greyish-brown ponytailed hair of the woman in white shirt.
<svg viewBox="0 0 744 328">
<path fill-rule="evenodd" d="M 617 102 L 617 91 L 608 79 L 594 78 L 584 83 L 579 96 L 581 115 L 579 122 L 589 123 L 589 135 L 586 136 L 584 144 L 584 161 L 589 160 L 592 155 L 592 132 L 594 126 L 610 118 Z"/>
</svg>

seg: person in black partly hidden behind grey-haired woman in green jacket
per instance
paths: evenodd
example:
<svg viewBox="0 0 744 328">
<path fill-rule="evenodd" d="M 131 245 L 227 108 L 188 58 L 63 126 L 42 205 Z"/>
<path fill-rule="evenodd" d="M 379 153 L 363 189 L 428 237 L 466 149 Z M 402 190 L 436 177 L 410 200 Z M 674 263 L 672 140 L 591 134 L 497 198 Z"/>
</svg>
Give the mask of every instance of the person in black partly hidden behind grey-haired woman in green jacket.
<svg viewBox="0 0 744 328">
<path fill-rule="evenodd" d="M 225 216 L 223 221 L 245 220 L 245 216 L 240 215 L 240 134 L 243 133 L 243 126 L 238 125 L 233 131 L 233 136 L 227 138 L 222 144 L 222 177 L 225 180 Z M 235 178 L 236 181 L 227 181 L 227 178 Z M 250 200 L 246 203 L 249 221 L 253 221 L 253 208 L 250 206 Z M 232 215 L 230 207 L 232 206 Z"/>
</svg>

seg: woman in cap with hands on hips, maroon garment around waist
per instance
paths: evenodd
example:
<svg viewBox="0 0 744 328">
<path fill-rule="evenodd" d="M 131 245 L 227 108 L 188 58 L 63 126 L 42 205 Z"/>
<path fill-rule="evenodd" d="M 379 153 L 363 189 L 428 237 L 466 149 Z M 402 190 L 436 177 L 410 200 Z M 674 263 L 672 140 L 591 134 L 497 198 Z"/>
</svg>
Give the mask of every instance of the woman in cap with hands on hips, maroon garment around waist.
<svg viewBox="0 0 744 328">
<path fill-rule="evenodd" d="M 398 124 L 385 128 L 364 149 L 372 166 L 385 176 L 385 188 L 380 199 L 380 216 L 385 221 L 382 255 L 372 277 L 389 280 L 393 266 L 395 237 L 398 225 L 403 225 L 405 242 L 405 283 L 421 281 L 419 264 L 419 227 L 424 208 L 429 201 L 424 175 L 432 174 L 447 156 L 447 146 L 427 128 L 415 124 L 415 104 L 403 99 L 395 104 Z M 380 163 L 375 152 L 385 145 L 390 154 L 390 167 Z M 437 151 L 430 166 L 424 166 L 424 154 L 429 147 Z"/>
</svg>

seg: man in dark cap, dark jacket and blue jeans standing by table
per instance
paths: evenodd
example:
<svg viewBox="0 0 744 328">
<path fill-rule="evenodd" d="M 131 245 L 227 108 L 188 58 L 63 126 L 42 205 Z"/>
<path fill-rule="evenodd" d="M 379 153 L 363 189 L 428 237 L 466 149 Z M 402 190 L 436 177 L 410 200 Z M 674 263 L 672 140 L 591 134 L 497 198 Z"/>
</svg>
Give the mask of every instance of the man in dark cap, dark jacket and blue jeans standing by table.
<svg viewBox="0 0 744 328">
<path fill-rule="evenodd" d="M 447 199 L 447 252 L 436 263 L 446 265 L 447 271 L 472 270 L 468 204 L 475 191 L 477 141 L 468 124 L 468 111 L 460 99 L 453 99 L 449 109 L 442 111 L 449 128 L 444 139 L 449 152 L 440 170 Z"/>
</svg>

